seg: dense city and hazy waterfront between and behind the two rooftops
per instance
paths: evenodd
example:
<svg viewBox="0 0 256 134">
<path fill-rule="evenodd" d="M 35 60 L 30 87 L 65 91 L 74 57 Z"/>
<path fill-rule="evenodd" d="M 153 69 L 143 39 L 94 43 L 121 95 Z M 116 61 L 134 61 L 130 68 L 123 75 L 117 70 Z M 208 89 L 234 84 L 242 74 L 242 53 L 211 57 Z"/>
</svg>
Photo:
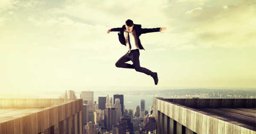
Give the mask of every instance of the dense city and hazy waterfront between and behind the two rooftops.
<svg viewBox="0 0 256 134">
<path fill-rule="evenodd" d="M 59 99 L 83 99 L 84 134 L 156 134 L 156 99 L 163 98 L 256 98 L 253 90 L 237 89 L 182 89 L 133 91 L 105 94 L 100 91 L 66 90 Z M 96 97 L 95 97 L 96 96 Z M 124 97 L 140 97 L 140 105 L 130 104 Z M 151 100 L 144 100 L 144 97 Z M 135 99 L 136 100 L 136 99 Z M 148 102 L 146 102 L 148 101 Z M 145 103 L 150 103 L 147 110 Z M 132 108 L 132 106 L 134 108 Z"/>
</svg>

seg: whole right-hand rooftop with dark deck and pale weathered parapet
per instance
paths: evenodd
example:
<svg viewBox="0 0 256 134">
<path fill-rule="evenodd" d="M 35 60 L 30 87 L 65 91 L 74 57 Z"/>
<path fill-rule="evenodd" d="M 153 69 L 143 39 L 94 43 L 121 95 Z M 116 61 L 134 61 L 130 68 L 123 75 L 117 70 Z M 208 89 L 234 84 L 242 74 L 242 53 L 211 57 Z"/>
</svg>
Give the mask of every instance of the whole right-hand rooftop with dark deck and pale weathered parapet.
<svg viewBox="0 0 256 134">
<path fill-rule="evenodd" d="M 255 134 L 256 99 L 157 99 L 157 134 Z"/>
</svg>

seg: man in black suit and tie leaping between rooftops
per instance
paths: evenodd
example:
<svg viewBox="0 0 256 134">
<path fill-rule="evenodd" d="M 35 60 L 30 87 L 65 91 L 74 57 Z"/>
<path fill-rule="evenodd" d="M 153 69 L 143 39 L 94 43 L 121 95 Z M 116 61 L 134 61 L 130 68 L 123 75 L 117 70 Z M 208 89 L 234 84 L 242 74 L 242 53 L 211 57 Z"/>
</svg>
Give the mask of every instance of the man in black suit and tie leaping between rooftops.
<svg viewBox="0 0 256 134">
<path fill-rule="evenodd" d="M 152 72 L 147 68 L 140 66 L 140 49 L 144 49 L 140 43 L 140 35 L 150 32 L 164 31 L 166 28 L 153 28 L 153 29 L 142 29 L 141 25 L 134 24 L 132 20 L 126 20 L 125 25 L 122 28 L 109 29 L 107 33 L 111 31 L 118 31 L 118 38 L 122 45 L 128 48 L 128 52 L 123 55 L 117 62 L 116 67 L 118 68 L 134 68 L 136 71 L 150 75 L 154 79 L 155 85 L 158 83 L 158 77 L 156 72 Z M 144 49 L 145 50 L 145 49 Z M 133 65 L 126 62 L 132 61 Z"/>
</svg>

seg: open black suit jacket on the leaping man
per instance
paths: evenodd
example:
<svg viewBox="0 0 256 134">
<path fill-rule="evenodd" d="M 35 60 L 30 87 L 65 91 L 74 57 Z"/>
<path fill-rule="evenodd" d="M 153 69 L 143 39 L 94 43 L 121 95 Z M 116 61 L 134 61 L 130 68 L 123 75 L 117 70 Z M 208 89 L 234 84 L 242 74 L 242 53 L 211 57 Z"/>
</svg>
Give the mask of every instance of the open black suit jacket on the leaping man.
<svg viewBox="0 0 256 134">
<path fill-rule="evenodd" d="M 123 25 L 122 28 L 113 28 L 113 29 L 110 29 L 110 30 L 111 31 L 119 31 L 118 32 L 119 41 L 120 41 L 120 43 L 122 45 L 126 46 L 126 44 L 125 44 L 125 36 L 124 36 L 124 29 L 126 29 L 125 25 Z M 140 35 L 141 34 L 160 31 L 160 28 L 142 29 L 141 25 L 139 25 L 139 24 L 134 24 L 133 29 L 136 31 L 136 35 L 137 35 L 137 39 L 138 39 L 138 45 L 139 45 L 140 49 L 144 49 L 143 46 L 140 43 Z"/>
</svg>

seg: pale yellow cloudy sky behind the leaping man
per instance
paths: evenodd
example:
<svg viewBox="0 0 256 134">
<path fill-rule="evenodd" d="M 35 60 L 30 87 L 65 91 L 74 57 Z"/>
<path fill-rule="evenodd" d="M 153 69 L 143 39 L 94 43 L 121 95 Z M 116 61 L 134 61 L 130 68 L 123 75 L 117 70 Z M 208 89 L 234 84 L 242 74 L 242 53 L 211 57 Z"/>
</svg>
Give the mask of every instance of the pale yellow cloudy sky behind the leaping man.
<svg viewBox="0 0 256 134">
<path fill-rule="evenodd" d="M 167 27 L 140 36 L 157 86 L 115 67 L 126 48 L 107 30 L 127 19 Z M 256 1 L 0 0 L 0 54 L 1 91 L 255 88 Z"/>
</svg>

